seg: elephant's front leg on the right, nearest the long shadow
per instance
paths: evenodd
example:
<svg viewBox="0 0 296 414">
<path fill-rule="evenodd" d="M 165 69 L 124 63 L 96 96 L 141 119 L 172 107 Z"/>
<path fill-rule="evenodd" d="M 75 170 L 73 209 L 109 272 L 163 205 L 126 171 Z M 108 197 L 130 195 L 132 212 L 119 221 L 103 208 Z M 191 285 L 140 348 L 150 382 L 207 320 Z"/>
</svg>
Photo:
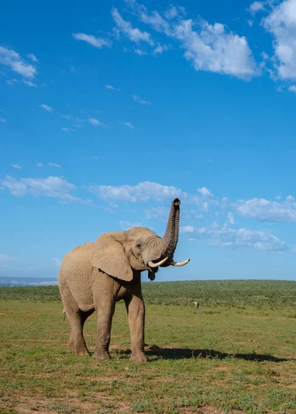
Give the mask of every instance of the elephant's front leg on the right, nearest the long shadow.
<svg viewBox="0 0 296 414">
<path fill-rule="evenodd" d="M 129 331 L 131 333 L 131 361 L 146 362 L 144 353 L 145 304 L 140 296 L 131 295 L 125 299 L 129 314 Z"/>
</svg>

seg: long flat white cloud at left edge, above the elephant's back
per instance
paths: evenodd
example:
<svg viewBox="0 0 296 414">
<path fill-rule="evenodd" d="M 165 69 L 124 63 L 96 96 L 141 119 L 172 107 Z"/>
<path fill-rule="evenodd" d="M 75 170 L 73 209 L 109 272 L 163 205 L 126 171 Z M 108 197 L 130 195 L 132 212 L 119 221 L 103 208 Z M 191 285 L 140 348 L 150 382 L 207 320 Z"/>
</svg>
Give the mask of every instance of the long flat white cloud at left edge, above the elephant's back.
<svg viewBox="0 0 296 414">
<path fill-rule="evenodd" d="M 89 199 L 84 200 L 71 195 L 70 193 L 76 190 L 76 186 L 68 183 L 64 177 L 15 179 L 7 175 L 6 179 L 0 180 L 0 184 L 15 197 L 33 195 L 34 197 L 53 197 L 62 201 L 93 204 L 93 201 Z"/>
</svg>

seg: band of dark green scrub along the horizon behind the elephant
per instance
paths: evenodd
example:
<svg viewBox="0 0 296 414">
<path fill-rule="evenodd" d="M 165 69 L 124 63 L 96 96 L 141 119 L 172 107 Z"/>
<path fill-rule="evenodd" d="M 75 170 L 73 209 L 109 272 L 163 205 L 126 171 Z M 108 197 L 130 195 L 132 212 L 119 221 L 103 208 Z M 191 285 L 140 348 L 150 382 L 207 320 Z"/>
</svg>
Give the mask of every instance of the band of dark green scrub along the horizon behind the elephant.
<svg viewBox="0 0 296 414">
<path fill-rule="evenodd" d="M 296 282 L 277 280 L 209 280 L 142 284 L 147 304 L 186 306 L 296 306 Z M 60 301 L 58 286 L 0 287 L 0 299 Z"/>
</svg>

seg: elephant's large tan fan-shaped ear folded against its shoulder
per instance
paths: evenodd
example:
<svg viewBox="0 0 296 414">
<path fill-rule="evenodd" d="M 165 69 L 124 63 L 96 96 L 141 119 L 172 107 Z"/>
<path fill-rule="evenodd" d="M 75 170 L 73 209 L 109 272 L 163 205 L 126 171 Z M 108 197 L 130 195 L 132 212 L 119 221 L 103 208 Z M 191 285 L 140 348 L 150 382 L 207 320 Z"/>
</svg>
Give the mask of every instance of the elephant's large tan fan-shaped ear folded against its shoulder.
<svg viewBox="0 0 296 414">
<path fill-rule="evenodd" d="M 98 237 L 91 251 L 91 264 L 117 279 L 127 282 L 133 279 L 133 270 L 116 232 Z"/>
</svg>

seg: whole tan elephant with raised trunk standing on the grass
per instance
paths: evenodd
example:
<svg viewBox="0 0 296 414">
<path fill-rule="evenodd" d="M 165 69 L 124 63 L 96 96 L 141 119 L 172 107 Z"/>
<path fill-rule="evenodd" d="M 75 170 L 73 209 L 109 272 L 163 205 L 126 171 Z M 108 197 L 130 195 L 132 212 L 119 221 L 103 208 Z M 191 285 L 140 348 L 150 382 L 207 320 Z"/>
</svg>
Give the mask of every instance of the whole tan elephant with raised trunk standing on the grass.
<svg viewBox="0 0 296 414">
<path fill-rule="evenodd" d="M 111 323 L 115 303 L 124 299 L 129 318 L 131 360 L 147 361 L 145 354 L 145 304 L 141 290 L 141 272 L 148 270 L 154 280 L 158 267 L 184 266 L 174 262 L 178 243 L 181 201 L 175 198 L 163 238 L 148 228 L 134 227 L 126 231 L 103 233 L 93 243 L 73 248 L 59 269 L 59 292 L 71 324 L 68 351 L 89 355 L 83 326 L 94 311 L 98 318 L 93 357 L 109 359 Z"/>
</svg>

